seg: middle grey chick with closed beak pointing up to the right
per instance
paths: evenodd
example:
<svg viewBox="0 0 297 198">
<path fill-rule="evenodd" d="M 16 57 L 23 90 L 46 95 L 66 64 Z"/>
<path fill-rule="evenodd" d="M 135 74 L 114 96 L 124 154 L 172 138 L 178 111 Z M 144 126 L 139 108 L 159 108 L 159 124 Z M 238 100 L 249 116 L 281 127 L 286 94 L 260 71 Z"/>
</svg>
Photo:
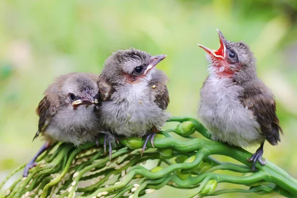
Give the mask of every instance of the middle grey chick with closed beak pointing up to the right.
<svg viewBox="0 0 297 198">
<path fill-rule="evenodd" d="M 169 118 L 165 112 L 169 103 L 168 78 L 155 69 L 165 57 L 134 48 L 118 50 L 105 60 L 99 76 L 102 125 L 115 136 L 148 135 L 142 153 L 149 139 L 153 146 L 155 134 Z"/>
</svg>

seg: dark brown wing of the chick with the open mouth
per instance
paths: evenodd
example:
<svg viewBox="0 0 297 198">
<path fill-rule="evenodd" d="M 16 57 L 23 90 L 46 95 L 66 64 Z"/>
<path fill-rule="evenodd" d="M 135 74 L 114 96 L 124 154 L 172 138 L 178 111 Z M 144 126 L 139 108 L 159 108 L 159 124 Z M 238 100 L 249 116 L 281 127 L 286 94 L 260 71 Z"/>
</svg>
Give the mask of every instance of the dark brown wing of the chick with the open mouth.
<svg viewBox="0 0 297 198">
<path fill-rule="evenodd" d="M 265 93 L 256 93 L 244 99 L 244 105 L 251 110 L 257 122 L 260 124 L 261 132 L 271 145 L 277 145 L 280 141 L 282 129 L 276 115 L 276 104 L 273 96 Z"/>
</svg>

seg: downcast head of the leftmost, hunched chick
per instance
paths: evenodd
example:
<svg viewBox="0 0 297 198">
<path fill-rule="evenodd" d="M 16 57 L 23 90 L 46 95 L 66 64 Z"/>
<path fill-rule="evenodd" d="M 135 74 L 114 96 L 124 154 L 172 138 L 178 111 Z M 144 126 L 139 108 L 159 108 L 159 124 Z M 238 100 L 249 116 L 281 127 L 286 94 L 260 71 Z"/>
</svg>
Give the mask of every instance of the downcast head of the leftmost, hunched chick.
<svg viewBox="0 0 297 198">
<path fill-rule="evenodd" d="M 98 104 L 98 86 L 86 74 L 75 74 L 65 81 L 61 87 L 64 102 L 77 109 L 78 106 Z"/>
</svg>

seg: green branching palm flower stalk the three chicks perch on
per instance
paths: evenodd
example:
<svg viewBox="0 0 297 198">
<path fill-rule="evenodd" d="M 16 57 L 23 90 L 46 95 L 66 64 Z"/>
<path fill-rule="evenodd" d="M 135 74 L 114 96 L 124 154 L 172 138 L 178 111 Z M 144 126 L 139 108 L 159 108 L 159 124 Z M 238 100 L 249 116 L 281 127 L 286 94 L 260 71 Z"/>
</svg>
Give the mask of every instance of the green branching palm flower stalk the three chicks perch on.
<svg viewBox="0 0 297 198">
<path fill-rule="evenodd" d="M 191 198 L 234 192 L 297 197 L 297 180 L 273 163 L 257 164 L 258 172 L 251 172 L 251 164 L 247 162 L 249 152 L 209 140 L 209 134 L 196 119 L 173 117 L 169 122 L 179 124 L 175 129 L 158 134 L 154 140 L 155 148 L 148 144 L 150 148 L 142 157 L 144 140 L 139 138 L 120 140 L 111 161 L 94 144 L 76 148 L 58 143 L 38 158 L 38 166 L 30 170 L 28 177 L 16 179 L 0 198 L 138 198 L 166 185 L 196 189 Z M 195 131 L 206 139 L 192 137 Z M 172 132 L 184 138 L 173 138 Z M 102 144 L 103 139 L 99 142 Z M 211 157 L 213 154 L 232 157 L 242 164 L 217 161 Z M 158 160 L 158 165 L 151 170 L 140 165 L 150 159 Z M 9 174 L 0 189 L 23 167 Z M 242 174 L 218 174 L 215 173 L 217 170 Z M 243 188 L 217 190 L 217 185 L 223 182 Z"/>
</svg>

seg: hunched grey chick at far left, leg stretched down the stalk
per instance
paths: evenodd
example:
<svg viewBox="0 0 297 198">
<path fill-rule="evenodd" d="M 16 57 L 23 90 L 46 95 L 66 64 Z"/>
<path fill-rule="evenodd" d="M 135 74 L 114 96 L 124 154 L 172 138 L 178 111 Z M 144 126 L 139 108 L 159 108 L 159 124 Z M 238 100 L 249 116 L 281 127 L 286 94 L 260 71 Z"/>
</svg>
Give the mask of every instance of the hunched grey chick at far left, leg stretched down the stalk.
<svg viewBox="0 0 297 198">
<path fill-rule="evenodd" d="M 36 113 L 38 131 L 45 143 L 25 166 L 23 176 L 37 165 L 37 157 L 54 142 L 72 143 L 75 146 L 94 140 L 98 136 L 99 88 L 98 76 L 91 73 L 68 73 L 57 77 L 46 89 Z"/>
</svg>

